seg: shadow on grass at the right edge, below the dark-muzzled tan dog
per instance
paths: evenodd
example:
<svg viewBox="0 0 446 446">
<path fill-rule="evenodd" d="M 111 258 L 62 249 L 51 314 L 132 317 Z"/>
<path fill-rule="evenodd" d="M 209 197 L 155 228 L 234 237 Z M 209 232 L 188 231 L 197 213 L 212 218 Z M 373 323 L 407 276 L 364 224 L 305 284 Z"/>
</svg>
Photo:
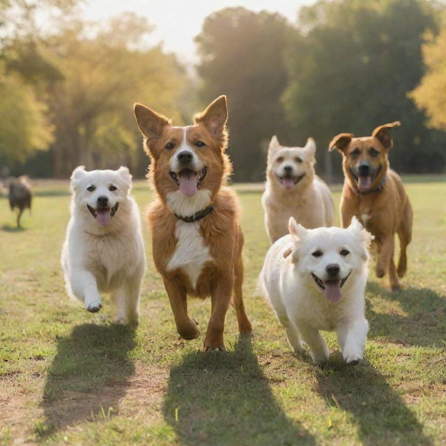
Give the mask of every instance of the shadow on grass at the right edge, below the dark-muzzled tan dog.
<svg viewBox="0 0 446 446">
<path fill-rule="evenodd" d="M 378 295 L 387 301 L 399 302 L 406 314 L 395 312 L 374 312 L 367 305 L 367 319 L 370 324 L 369 338 L 387 337 L 389 341 L 403 346 L 429 346 L 442 348 L 446 332 L 446 298 L 427 288 L 407 287 L 392 292 L 375 282 L 367 284 L 367 294 Z"/>
</svg>

